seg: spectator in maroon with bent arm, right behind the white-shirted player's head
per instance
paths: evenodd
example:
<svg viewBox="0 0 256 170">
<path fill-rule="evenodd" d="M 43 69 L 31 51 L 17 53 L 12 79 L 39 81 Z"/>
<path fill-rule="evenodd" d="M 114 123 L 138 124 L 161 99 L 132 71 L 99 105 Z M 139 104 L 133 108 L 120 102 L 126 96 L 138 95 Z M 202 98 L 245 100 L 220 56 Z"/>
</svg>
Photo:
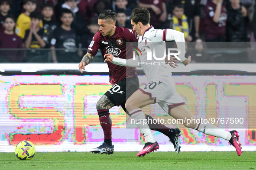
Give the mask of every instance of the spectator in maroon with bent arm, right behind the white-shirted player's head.
<svg viewBox="0 0 256 170">
<path fill-rule="evenodd" d="M 155 29 L 162 29 L 167 18 L 165 0 L 139 0 L 138 7 L 145 7 L 150 13 L 150 24 Z"/>
</svg>

